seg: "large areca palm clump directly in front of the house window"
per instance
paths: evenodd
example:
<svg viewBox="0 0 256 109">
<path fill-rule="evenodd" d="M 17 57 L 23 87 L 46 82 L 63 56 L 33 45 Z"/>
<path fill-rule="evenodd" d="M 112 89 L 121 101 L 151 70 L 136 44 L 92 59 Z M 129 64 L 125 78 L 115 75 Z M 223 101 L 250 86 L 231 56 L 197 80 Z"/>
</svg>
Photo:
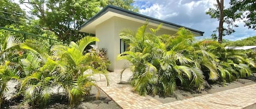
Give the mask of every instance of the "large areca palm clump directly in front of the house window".
<svg viewBox="0 0 256 109">
<path fill-rule="evenodd" d="M 157 29 L 150 28 L 151 33 L 145 33 L 145 24 L 136 34 L 129 30 L 120 34 L 121 39 L 129 40 L 130 51 L 120 54 L 118 59 L 133 63 L 135 91 L 141 95 L 170 95 L 177 85 L 187 85 L 184 83 L 200 89 L 204 83 L 203 72 L 193 66 L 194 61 L 188 55 L 193 50 L 192 34 L 180 29 L 177 36 L 157 36 L 159 28 L 160 25 Z"/>
</svg>

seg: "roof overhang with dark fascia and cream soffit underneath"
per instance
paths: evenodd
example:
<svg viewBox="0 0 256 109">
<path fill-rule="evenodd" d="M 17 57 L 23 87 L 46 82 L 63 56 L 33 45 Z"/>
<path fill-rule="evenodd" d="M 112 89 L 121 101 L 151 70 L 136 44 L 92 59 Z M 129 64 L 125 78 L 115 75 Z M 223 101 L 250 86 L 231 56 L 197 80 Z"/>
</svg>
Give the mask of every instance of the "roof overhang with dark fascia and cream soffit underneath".
<svg viewBox="0 0 256 109">
<path fill-rule="evenodd" d="M 96 33 L 96 25 L 103 23 L 104 21 L 108 20 L 111 17 L 120 17 L 120 18 L 125 18 L 127 20 L 139 22 L 139 23 L 145 23 L 145 21 L 148 21 L 149 25 L 157 27 L 159 24 L 162 24 L 161 28 L 168 29 L 168 30 L 173 30 L 177 31 L 178 28 L 184 27 L 182 25 L 166 22 L 163 20 L 158 20 L 157 18 L 145 16 L 142 14 L 138 14 L 133 11 L 125 10 L 122 8 L 115 7 L 113 5 L 108 5 L 104 9 L 102 9 L 98 14 L 90 18 L 90 20 L 86 21 L 84 24 L 82 24 L 78 30 L 80 32 L 84 33 L 91 33 L 95 34 Z M 195 36 L 203 36 L 204 32 L 195 30 L 192 28 L 184 27 L 186 29 L 189 29 L 192 31 L 192 33 Z"/>
</svg>

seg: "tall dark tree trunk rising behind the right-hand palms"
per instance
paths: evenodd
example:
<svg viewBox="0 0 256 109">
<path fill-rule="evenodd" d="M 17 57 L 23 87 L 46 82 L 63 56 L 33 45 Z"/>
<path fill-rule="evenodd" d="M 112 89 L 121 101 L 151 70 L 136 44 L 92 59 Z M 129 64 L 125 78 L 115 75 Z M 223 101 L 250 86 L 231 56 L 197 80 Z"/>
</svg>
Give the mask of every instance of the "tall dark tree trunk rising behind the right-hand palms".
<svg viewBox="0 0 256 109">
<path fill-rule="evenodd" d="M 219 37 L 218 37 L 218 42 L 222 43 L 222 35 L 223 35 L 223 22 L 224 22 L 224 16 L 223 16 L 223 9 L 224 9 L 224 0 L 216 0 L 218 3 L 219 7 Z"/>
</svg>

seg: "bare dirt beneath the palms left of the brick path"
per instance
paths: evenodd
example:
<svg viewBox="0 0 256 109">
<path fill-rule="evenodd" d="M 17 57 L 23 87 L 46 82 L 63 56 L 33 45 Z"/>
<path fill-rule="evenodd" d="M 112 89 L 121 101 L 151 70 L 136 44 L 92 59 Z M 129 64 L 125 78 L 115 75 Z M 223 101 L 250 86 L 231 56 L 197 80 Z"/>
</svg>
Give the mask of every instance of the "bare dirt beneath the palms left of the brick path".
<svg viewBox="0 0 256 109">
<path fill-rule="evenodd" d="M 92 88 L 91 94 L 86 96 L 83 101 L 80 102 L 79 106 L 76 108 L 112 108 L 112 109 L 120 109 L 121 107 L 116 104 L 116 102 L 112 101 L 105 94 L 100 92 L 100 97 L 96 100 L 96 88 Z M 55 95 L 51 99 L 50 103 L 45 107 L 47 109 L 71 109 L 69 107 L 67 98 L 62 95 Z M 28 104 L 21 104 L 21 101 L 9 100 L 8 102 L 4 102 L 1 108 L 12 108 L 12 109 L 25 109 L 25 108 L 34 108 L 29 106 Z"/>
</svg>

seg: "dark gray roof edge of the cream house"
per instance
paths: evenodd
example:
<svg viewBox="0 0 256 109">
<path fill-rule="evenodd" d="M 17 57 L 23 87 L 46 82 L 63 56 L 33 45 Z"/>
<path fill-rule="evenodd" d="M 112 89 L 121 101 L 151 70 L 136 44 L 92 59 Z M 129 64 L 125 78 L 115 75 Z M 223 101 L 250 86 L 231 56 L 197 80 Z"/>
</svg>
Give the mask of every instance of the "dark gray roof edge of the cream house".
<svg viewBox="0 0 256 109">
<path fill-rule="evenodd" d="M 184 27 L 182 25 L 178 25 L 178 24 L 175 24 L 175 23 L 171 23 L 171 22 L 166 22 L 166 21 L 163 21 L 163 20 L 159 20 L 157 18 L 153 18 L 153 17 L 150 17 L 150 16 L 145 16 L 145 15 L 142 15 L 142 14 L 138 14 L 136 12 L 133 12 L 133 11 L 129 11 L 129 10 L 126 10 L 126 9 L 122 9 L 122 8 L 119 8 L 119 7 L 116 7 L 114 5 L 108 5 L 106 6 L 105 8 L 103 8 L 100 12 L 98 12 L 96 15 L 94 15 L 92 18 L 90 18 L 90 20 L 86 21 L 84 24 L 82 24 L 78 30 L 81 30 L 83 27 L 85 27 L 86 25 L 90 24 L 91 22 L 93 22 L 94 20 L 96 20 L 97 18 L 99 18 L 100 16 L 104 15 L 106 12 L 108 11 L 111 11 L 111 12 L 115 12 L 117 14 L 121 14 L 121 15 L 125 15 L 125 16 L 129 16 L 129 17 L 133 17 L 133 18 L 137 18 L 139 20 L 148 20 L 148 22 L 152 22 L 152 23 L 156 23 L 156 24 L 160 24 L 162 23 L 164 26 L 166 27 L 170 27 L 170 28 L 175 28 L 175 29 L 178 29 L 178 28 L 181 28 L 181 27 Z M 192 29 L 192 28 L 188 28 L 188 27 L 184 27 L 186 29 L 189 29 L 191 30 L 192 32 L 197 32 L 199 33 L 201 36 L 203 36 L 204 32 L 203 31 L 199 31 L 199 30 L 195 30 L 195 29 Z"/>
</svg>

